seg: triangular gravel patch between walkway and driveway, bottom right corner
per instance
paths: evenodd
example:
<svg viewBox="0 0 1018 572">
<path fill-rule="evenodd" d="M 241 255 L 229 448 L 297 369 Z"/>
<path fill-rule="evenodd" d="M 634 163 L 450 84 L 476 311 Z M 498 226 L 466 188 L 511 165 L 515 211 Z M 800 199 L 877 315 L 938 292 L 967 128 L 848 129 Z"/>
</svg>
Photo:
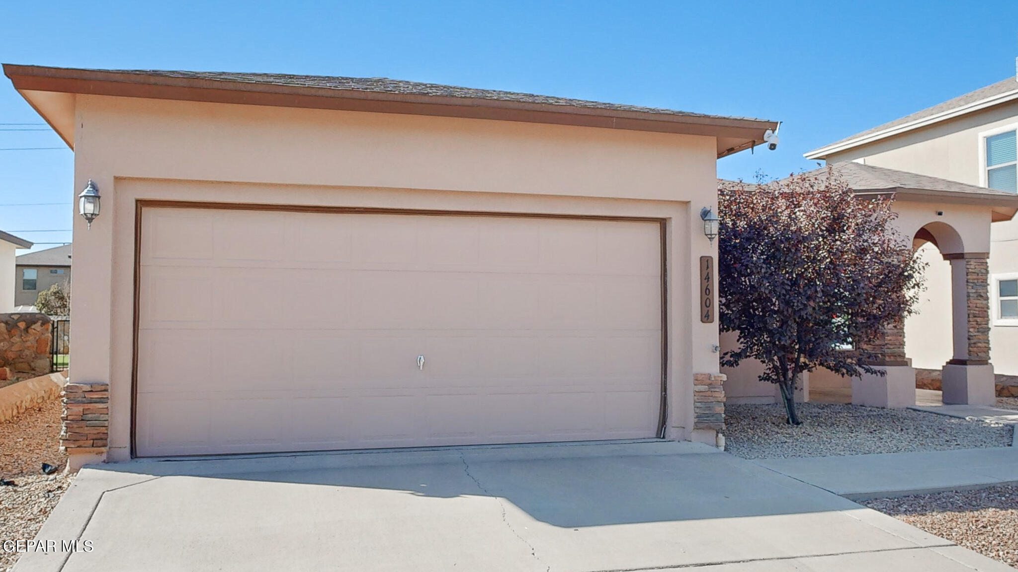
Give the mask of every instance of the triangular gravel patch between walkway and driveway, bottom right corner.
<svg viewBox="0 0 1018 572">
<path fill-rule="evenodd" d="M 1018 567 L 1018 487 L 874 499 L 862 504 Z"/>
</svg>

